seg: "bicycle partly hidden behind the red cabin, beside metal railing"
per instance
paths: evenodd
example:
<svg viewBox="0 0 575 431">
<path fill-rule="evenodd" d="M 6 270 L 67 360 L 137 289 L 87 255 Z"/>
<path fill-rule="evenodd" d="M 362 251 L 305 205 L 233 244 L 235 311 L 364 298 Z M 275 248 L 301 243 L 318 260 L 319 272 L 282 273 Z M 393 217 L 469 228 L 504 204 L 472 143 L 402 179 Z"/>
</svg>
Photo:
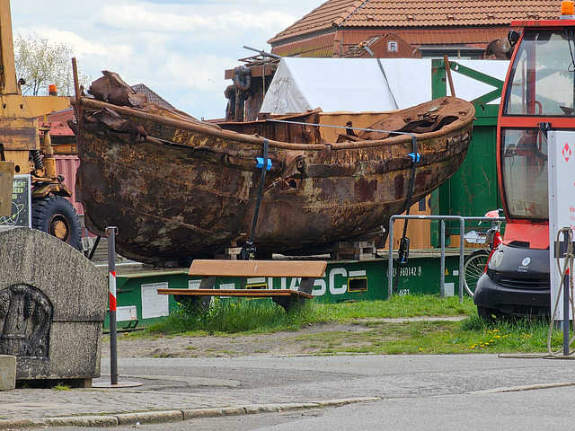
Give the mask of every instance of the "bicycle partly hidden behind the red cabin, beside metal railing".
<svg viewBox="0 0 575 431">
<path fill-rule="evenodd" d="M 502 209 L 494 209 L 488 212 L 485 216 L 498 218 Z M 480 222 L 481 225 L 484 222 Z M 477 281 L 482 277 L 487 268 L 487 262 L 491 258 L 493 251 L 500 246 L 501 239 L 501 222 L 494 220 L 491 222 L 491 228 L 486 232 L 470 231 L 464 234 L 466 242 L 474 244 L 485 244 L 484 248 L 473 251 L 469 256 L 464 259 L 464 289 L 467 295 L 473 298 L 475 286 Z"/>
</svg>

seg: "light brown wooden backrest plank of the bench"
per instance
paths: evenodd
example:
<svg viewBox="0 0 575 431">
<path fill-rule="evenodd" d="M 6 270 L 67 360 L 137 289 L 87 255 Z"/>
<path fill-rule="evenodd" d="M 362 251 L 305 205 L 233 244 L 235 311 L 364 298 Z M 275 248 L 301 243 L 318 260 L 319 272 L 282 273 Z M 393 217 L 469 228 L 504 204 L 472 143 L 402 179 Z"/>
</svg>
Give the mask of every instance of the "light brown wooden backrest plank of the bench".
<svg viewBox="0 0 575 431">
<path fill-rule="evenodd" d="M 191 262 L 190 276 L 202 277 L 323 277 L 324 260 L 208 260 Z"/>
</svg>

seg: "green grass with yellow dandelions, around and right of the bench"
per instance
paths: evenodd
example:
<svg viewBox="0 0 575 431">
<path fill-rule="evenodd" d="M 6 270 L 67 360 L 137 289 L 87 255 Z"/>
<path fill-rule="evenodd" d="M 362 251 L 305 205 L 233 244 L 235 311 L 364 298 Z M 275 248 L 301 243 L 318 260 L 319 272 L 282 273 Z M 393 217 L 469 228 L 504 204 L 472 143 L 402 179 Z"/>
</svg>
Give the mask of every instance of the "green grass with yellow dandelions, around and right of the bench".
<svg viewBox="0 0 575 431">
<path fill-rule="evenodd" d="M 429 316 L 429 320 L 388 322 L 385 318 Z M 466 316 L 462 321 L 434 321 L 435 317 Z M 207 310 L 181 307 L 146 330 L 144 336 L 243 335 L 297 331 L 305 325 L 353 323 L 347 331 L 294 333 L 307 353 L 331 354 L 473 354 L 544 353 L 549 321 L 483 321 L 473 300 L 435 295 L 395 296 L 389 301 L 318 303 L 286 313 L 265 300 L 216 298 Z M 552 346 L 562 347 L 562 331 L 553 330 Z M 234 352 L 235 353 L 235 352 Z"/>
</svg>

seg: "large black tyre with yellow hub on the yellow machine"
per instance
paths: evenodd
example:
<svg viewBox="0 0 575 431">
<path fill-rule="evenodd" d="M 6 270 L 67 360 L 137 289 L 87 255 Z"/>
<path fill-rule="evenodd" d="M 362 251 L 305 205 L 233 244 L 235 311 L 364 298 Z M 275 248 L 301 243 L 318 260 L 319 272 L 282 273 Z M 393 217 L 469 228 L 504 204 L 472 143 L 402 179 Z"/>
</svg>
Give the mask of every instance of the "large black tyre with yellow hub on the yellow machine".
<svg viewBox="0 0 575 431">
<path fill-rule="evenodd" d="M 82 227 L 74 206 L 61 196 L 47 196 L 32 203 L 32 227 L 80 250 Z"/>
</svg>

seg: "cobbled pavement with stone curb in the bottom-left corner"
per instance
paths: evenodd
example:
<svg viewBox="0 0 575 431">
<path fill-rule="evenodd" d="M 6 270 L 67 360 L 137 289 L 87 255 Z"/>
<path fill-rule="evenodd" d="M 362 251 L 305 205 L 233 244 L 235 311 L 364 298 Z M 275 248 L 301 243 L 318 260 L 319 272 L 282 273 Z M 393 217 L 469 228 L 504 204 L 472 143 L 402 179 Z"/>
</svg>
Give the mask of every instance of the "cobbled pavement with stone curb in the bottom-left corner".
<svg viewBox="0 0 575 431">
<path fill-rule="evenodd" d="M 100 379 L 99 379 L 100 380 Z M 130 389 L 16 389 L 0 392 L 0 429 L 116 427 L 190 418 L 321 409 L 377 398 L 252 404 L 225 396 Z"/>
</svg>

